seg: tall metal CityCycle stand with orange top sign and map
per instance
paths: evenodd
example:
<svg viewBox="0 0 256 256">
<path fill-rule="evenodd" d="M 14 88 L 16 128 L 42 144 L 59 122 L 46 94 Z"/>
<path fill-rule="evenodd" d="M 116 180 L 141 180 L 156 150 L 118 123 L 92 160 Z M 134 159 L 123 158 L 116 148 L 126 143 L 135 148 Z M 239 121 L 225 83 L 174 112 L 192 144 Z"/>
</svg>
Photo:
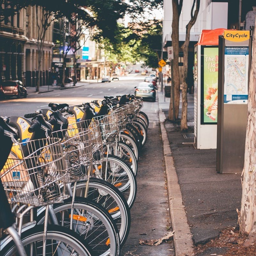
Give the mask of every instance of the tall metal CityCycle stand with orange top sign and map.
<svg viewBox="0 0 256 256">
<path fill-rule="evenodd" d="M 251 47 L 250 31 L 229 30 L 219 36 L 216 171 L 220 173 L 241 173 L 244 167 Z"/>
</svg>

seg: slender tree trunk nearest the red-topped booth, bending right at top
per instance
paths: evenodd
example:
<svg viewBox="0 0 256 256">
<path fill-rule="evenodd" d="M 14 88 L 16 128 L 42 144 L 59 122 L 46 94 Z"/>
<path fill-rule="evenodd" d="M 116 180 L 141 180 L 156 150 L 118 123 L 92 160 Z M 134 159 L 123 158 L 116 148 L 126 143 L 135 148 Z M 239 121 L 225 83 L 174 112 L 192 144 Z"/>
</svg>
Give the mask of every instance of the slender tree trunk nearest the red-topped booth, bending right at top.
<svg viewBox="0 0 256 256">
<path fill-rule="evenodd" d="M 196 10 L 193 15 L 193 10 L 196 2 Z M 190 40 L 190 30 L 196 22 L 197 14 L 199 11 L 200 0 L 194 0 L 192 8 L 191 8 L 191 20 L 188 22 L 186 26 L 186 38 L 184 44 L 181 46 L 183 51 L 183 70 L 182 70 L 182 108 L 181 108 L 181 122 L 180 122 L 180 130 L 184 131 L 188 129 L 187 116 L 188 116 L 188 45 Z"/>
</svg>

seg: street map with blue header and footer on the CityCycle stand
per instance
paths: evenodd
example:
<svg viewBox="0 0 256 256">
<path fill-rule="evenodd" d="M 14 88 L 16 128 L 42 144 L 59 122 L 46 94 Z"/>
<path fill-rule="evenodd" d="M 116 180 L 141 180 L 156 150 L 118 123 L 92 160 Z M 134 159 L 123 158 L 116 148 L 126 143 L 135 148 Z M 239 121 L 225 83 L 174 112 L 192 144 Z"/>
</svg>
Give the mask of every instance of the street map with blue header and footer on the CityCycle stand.
<svg viewBox="0 0 256 256">
<path fill-rule="evenodd" d="M 224 104 L 248 102 L 248 46 L 225 47 Z"/>
</svg>

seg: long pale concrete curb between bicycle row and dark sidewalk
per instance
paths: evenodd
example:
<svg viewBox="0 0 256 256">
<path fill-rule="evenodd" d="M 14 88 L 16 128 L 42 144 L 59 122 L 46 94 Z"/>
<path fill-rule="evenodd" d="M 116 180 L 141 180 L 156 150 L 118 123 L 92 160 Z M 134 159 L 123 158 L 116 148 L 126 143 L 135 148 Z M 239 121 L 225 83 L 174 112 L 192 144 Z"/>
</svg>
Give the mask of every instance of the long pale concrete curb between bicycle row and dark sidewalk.
<svg viewBox="0 0 256 256">
<path fill-rule="evenodd" d="M 174 167 L 173 157 L 171 156 L 172 151 L 167 137 L 167 132 L 164 127 L 165 115 L 162 109 L 159 108 L 159 100 L 158 109 L 163 142 L 169 210 L 172 222 L 172 230 L 174 231 L 173 243 L 175 256 L 192 256 L 194 255 L 192 234 L 190 233 L 186 212 L 184 205 L 182 204 L 182 196 L 178 182 L 178 176 Z"/>
</svg>

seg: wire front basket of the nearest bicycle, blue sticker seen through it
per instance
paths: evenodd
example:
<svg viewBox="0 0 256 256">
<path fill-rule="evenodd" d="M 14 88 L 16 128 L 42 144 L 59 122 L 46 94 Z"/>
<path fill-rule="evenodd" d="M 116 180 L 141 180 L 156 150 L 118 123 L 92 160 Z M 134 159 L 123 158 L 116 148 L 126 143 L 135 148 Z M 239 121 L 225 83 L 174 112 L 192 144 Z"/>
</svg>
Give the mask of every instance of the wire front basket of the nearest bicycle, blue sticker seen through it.
<svg viewBox="0 0 256 256">
<path fill-rule="evenodd" d="M 0 174 L 10 203 L 41 206 L 68 198 L 60 139 L 31 140 L 12 147 Z"/>
</svg>

